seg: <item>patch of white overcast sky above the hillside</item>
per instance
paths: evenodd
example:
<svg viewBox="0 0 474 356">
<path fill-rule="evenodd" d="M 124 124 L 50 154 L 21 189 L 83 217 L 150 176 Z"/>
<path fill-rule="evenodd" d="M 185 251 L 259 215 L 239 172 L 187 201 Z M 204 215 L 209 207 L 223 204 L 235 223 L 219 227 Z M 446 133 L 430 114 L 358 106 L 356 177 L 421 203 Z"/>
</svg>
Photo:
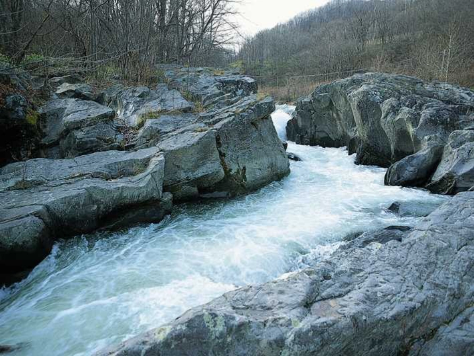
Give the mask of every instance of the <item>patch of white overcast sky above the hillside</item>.
<svg viewBox="0 0 474 356">
<path fill-rule="evenodd" d="M 236 5 L 240 12 L 237 22 L 242 34 L 252 35 L 327 2 L 329 0 L 241 0 Z"/>
</svg>

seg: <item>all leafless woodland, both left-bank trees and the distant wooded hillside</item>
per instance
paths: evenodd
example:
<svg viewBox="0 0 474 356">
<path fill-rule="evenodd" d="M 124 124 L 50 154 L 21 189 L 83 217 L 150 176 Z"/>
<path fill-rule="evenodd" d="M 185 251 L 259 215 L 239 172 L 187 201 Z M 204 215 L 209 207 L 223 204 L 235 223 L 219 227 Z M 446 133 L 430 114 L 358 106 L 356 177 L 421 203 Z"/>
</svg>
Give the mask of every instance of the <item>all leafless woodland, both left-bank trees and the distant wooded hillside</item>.
<svg viewBox="0 0 474 356">
<path fill-rule="evenodd" d="M 365 71 L 474 86 L 473 0 L 332 0 L 247 38 L 236 2 L 0 0 L 0 62 L 144 83 L 158 63 L 232 65 L 285 101 Z"/>
</svg>

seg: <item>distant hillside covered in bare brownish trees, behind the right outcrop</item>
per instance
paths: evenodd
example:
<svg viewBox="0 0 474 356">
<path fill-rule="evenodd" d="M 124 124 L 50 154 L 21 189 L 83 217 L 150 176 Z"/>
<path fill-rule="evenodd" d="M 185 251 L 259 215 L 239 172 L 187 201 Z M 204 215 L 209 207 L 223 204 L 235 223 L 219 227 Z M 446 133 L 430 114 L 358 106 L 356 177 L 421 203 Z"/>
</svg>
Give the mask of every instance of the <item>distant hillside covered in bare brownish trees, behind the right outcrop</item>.
<svg viewBox="0 0 474 356">
<path fill-rule="evenodd" d="M 473 0 L 333 0 L 247 38 L 239 59 L 280 91 L 358 69 L 473 87 L 473 18 Z"/>
</svg>

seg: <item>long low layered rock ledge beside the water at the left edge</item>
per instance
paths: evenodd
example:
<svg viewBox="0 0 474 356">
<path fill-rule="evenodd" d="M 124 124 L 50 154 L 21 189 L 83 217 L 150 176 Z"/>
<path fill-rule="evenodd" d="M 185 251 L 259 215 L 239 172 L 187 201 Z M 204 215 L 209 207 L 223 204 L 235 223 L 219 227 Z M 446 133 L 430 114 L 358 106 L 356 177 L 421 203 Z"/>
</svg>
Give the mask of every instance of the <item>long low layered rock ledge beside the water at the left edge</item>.
<svg viewBox="0 0 474 356">
<path fill-rule="evenodd" d="M 1 268 L 16 272 L 34 266 L 58 238 L 160 221 L 172 205 L 171 195 L 162 194 L 164 166 L 153 147 L 1 168 Z"/>
</svg>

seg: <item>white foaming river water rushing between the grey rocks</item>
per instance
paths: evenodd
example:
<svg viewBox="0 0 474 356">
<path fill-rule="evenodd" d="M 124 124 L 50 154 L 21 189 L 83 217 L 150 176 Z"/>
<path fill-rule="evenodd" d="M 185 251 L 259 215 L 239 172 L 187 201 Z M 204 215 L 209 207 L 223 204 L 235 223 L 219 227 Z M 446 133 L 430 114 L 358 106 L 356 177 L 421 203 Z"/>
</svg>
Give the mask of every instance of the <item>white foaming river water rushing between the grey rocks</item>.
<svg viewBox="0 0 474 356">
<path fill-rule="evenodd" d="M 284 138 L 289 107 L 273 114 Z M 58 242 L 30 276 L 0 290 L 8 355 L 90 355 L 245 284 L 325 256 L 352 232 L 413 224 L 385 208 L 444 198 L 385 187 L 385 170 L 343 149 L 289 143 L 303 162 L 280 182 L 233 200 L 177 207 L 160 224 Z"/>
</svg>

